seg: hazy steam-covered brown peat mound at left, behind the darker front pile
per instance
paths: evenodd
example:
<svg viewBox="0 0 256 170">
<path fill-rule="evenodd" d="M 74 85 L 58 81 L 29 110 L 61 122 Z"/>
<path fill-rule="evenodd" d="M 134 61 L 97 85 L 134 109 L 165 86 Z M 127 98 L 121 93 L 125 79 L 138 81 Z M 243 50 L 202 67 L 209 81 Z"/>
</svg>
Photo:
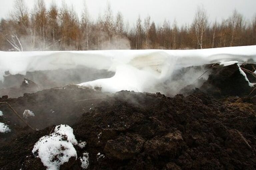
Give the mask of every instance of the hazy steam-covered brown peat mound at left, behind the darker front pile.
<svg viewBox="0 0 256 170">
<path fill-rule="evenodd" d="M 35 116 L 23 119 L 34 129 L 43 129 L 58 124 L 73 125 L 82 113 L 94 108 L 107 95 L 109 94 L 69 85 L 32 94 L 25 93 L 23 97 L 15 99 L 3 96 L 0 98 L 0 102 L 8 102 L 21 117 L 25 110 L 32 111 Z M 17 135 L 21 131 L 31 130 L 12 112 L 8 105 L 1 103 L 0 110 L 4 113 L 4 116 L 0 117 L 0 122 L 9 125 L 12 129 L 12 133 L 6 135 L 7 138 Z M 1 137 L 0 143 L 6 140 L 8 139 Z"/>
</svg>

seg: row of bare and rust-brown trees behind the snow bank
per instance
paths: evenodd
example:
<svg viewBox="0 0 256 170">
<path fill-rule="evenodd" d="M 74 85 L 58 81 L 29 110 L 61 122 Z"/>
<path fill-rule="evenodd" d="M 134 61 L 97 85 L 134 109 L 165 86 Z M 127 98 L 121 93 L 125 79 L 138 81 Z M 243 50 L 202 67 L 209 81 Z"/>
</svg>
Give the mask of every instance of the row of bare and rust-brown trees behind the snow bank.
<svg viewBox="0 0 256 170">
<path fill-rule="evenodd" d="M 200 49 L 256 44 L 256 16 L 246 21 L 236 10 L 222 22 L 210 22 L 198 7 L 190 25 L 165 20 L 156 25 L 150 16 L 138 16 L 132 27 L 110 4 L 94 21 L 84 3 L 81 16 L 65 1 L 46 8 L 37 0 L 29 11 L 24 0 L 15 0 L 8 19 L 0 22 L 0 50 L 100 50 L 100 49 Z"/>
</svg>

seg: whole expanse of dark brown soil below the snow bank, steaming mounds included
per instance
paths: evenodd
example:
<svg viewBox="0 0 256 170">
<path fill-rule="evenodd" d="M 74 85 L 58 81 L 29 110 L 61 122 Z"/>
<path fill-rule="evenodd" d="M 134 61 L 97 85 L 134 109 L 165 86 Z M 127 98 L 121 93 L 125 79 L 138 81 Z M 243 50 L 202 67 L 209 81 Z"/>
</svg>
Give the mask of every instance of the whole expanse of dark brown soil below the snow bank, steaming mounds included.
<svg viewBox="0 0 256 170">
<path fill-rule="evenodd" d="M 240 74 L 235 69 L 229 75 L 237 81 L 225 84 L 214 76 L 220 69 L 204 85 L 213 90 L 196 89 L 186 97 L 128 91 L 106 94 L 68 86 L 2 98 L 19 114 L 32 110 L 35 117 L 27 121 L 40 130 L 25 127 L 7 106 L 0 105 L 1 121 L 13 130 L 1 136 L 0 169 L 45 170 L 32 148 L 59 124 L 70 125 L 76 139 L 87 142 L 76 150 L 78 157 L 89 152 L 88 169 L 256 169 L 256 105 L 247 97 L 251 88 L 243 77 L 236 77 Z M 245 87 L 233 94 L 229 89 L 235 85 Z M 79 159 L 70 160 L 61 169 L 80 170 L 80 165 Z"/>
</svg>

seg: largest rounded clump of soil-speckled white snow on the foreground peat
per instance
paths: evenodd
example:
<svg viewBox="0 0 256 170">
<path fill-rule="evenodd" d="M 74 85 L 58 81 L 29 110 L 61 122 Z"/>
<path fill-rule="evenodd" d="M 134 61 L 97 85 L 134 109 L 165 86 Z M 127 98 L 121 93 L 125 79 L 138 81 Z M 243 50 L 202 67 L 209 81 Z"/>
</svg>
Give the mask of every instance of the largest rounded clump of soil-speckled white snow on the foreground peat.
<svg viewBox="0 0 256 170">
<path fill-rule="evenodd" d="M 50 135 L 41 137 L 32 150 L 34 156 L 41 159 L 47 170 L 58 170 L 71 157 L 77 159 L 77 153 L 73 146 L 76 141 L 73 129 L 67 125 L 60 125 L 54 131 Z"/>
</svg>

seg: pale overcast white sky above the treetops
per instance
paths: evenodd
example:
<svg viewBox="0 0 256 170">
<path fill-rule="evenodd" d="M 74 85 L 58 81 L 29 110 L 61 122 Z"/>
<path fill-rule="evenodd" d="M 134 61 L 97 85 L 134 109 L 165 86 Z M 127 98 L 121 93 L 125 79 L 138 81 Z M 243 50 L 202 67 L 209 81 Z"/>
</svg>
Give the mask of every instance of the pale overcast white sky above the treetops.
<svg viewBox="0 0 256 170">
<path fill-rule="evenodd" d="M 62 0 L 55 0 L 60 6 Z M 73 4 L 78 14 L 81 13 L 84 0 L 66 0 L 68 5 Z M 33 8 L 35 0 L 25 0 L 29 8 Z M 52 0 L 45 0 L 49 6 Z M 234 9 L 247 19 L 251 20 L 256 15 L 256 0 L 86 0 L 91 16 L 96 19 L 99 12 L 103 13 L 106 4 L 111 4 L 114 14 L 121 11 L 125 21 L 132 26 L 138 15 L 142 20 L 148 15 L 151 21 L 161 24 L 164 19 L 178 25 L 190 24 L 193 20 L 197 6 L 203 5 L 211 21 L 221 21 L 232 14 Z M 8 17 L 13 8 L 14 0 L 0 0 L 0 18 Z"/>
</svg>

